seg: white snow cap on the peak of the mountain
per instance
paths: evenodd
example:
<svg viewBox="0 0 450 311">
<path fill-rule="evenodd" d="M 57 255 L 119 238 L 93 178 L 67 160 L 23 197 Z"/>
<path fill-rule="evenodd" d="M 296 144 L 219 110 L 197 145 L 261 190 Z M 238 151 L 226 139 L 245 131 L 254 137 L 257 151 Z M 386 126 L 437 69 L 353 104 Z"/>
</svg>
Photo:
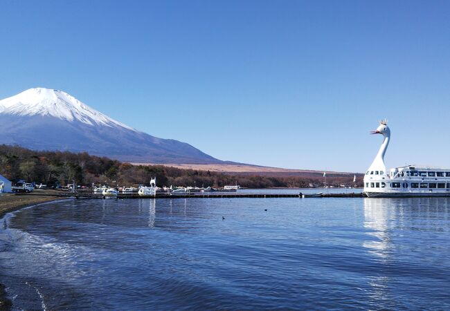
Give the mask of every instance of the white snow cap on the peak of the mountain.
<svg viewBox="0 0 450 311">
<path fill-rule="evenodd" d="M 15 96 L 0 100 L 0 113 L 11 115 L 49 115 L 69 122 L 121 126 L 136 131 L 83 104 L 66 92 L 49 88 L 30 88 Z"/>
</svg>

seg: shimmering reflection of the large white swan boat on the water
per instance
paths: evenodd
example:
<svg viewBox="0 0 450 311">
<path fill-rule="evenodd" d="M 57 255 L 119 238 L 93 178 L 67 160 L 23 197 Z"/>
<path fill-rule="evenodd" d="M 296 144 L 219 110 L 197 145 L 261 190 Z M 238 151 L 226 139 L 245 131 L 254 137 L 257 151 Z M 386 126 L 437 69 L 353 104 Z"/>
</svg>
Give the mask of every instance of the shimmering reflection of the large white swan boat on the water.
<svg viewBox="0 0 450 311">
<path fill-rule="evenodd" d="M 393 273 L 425 274 L 414 270 L 426 261 L 431 245 L 417 247 L 415 240 L 431 241 L 449 231 L 450 198 L 365 198 L 364 222 L 367 238 L 363 247 L 370 256 L 376 273 L 368 278 L 372 288 L 370 299 L 379 306 L 394 305 L 390 292 L 399 282 Z M 418 235 L 417 235 L 418 234 Z M 435 241 L 433 241 L 435 243 Z M 410 272 L 411 270 L 411 272 Z"/>
</svg>

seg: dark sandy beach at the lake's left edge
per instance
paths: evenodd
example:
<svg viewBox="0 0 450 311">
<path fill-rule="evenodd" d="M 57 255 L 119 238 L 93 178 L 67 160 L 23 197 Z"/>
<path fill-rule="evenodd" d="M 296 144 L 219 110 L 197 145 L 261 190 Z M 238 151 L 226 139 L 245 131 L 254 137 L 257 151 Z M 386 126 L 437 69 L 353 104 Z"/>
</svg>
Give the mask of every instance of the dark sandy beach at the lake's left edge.
<svg viewBox="0 0 450 311">
<path fill-rule="evenodd" d="M 47 191 L 42 191 L 42 193 L 39 191 L 35 194 L 29 194 L 27 196 L 2 194 L 0 196 L 0 218 L 3 218 L 6 214 L 11 213 L 12 211 L 18 211 L 24 207 L 61 199 L 61 197 L 55 196 L 55 194 L 50 194 Z M 8 299 L 6 285 L 0 283 L 0 310 L 11 310 L 11 308 L 12 301 Z"/>
</svg>

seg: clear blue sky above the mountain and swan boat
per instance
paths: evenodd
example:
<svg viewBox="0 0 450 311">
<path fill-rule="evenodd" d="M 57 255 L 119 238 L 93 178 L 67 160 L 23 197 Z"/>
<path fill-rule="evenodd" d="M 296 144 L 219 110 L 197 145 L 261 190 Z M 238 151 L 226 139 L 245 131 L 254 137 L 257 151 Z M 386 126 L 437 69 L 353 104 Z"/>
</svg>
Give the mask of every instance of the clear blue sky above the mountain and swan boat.
<svg viewBox="0 0 450 311">
<path fill-rule="evenodd" d="M 450 167 L 450 1 L 0 2 L 0 98 L 64 90 L 211 156 Z M 37 138 L 38 139 L 38 138 Z"/>
</svg>

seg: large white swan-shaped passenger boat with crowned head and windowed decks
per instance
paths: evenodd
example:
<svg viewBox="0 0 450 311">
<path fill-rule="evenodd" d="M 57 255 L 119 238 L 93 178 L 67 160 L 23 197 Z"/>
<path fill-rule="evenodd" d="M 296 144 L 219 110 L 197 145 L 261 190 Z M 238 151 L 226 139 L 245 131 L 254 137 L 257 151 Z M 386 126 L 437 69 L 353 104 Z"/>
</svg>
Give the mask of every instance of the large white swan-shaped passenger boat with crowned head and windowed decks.
<svg viewBox="0 0 450 311">
<path fill-rule="evenodd" d="M 381 134 L 384 139 L 364 176 L 364 194 L 368 197 L 450 196 L 450 169 L 406 165 L 387 171 L 384 164 L 390 140 L 387 122 L 381 121 L 372 134 Z"/>
</svg>

